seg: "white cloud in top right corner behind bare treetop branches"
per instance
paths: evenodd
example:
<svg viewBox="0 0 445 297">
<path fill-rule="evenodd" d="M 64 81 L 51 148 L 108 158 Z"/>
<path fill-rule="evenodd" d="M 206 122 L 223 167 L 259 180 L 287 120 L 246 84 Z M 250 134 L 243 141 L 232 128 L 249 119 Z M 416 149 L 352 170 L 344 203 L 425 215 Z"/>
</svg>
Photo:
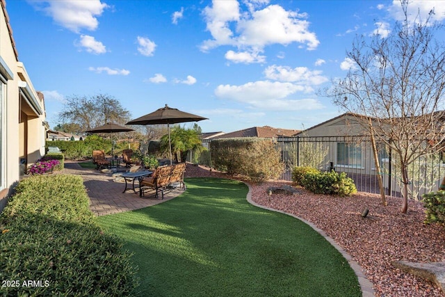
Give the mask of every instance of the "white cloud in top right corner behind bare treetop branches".
<svg viewBox="0 0 445 297">
<path fill-rule="evenodd" d="M 389 13 L 399 20 L 403 21 L 403 11 L 401 9 L 401 1 L 393 0 L 392 5 L 388 8 Z M 422 21 L 428 18 L 428 14 L 434 10 L 434 15 L 431 16 L 432 21 L 442 22 L 445 19 L 445 1 L 443 0 L 412 0 L 408 5 L 408 19 L 413 22 L 418 15 Z M 416 19 L 419 21 L 419 18 Z"/>
</svg>

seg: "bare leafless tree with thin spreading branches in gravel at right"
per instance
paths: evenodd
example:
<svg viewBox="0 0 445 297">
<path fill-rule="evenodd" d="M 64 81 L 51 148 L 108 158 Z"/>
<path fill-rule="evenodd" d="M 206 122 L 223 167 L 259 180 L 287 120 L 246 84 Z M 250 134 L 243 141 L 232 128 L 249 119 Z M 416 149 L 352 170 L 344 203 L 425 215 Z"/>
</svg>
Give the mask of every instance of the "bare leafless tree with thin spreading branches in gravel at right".
<svg viewBox="0 0 445 297">
<path fill-rule="evenodd" d="M 374 143 L 383 141 L 397 154 L 403 213 L 408 209 L 408 166 L 443 150 L 445 138 L 445 47 L 435 38 L 442 26 L 432 23 L 433 9 L 426 19 L 418 14 L 410 22 L 407 6 L 408 1 L 401 1 L 405 18 L 388 38 L 357 37 L 347 53 L 354 66 L 326 90 L 341 109 L 364 115 L 357 120 Z"/>
</svg>

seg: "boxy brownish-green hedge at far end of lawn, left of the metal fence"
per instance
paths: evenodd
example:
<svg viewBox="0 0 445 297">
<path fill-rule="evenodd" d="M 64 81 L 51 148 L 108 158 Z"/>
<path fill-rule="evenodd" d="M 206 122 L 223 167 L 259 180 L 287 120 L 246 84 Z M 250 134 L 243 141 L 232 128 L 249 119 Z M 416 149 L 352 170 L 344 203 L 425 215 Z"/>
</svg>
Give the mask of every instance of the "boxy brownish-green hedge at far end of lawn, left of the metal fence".
<svg viewBox="0 0 445 297">
<path fill-rule="evenodd" d="M 213 167 L 253 182 L 277 179 L 284 170 L 281 152 L 264 138 L 228 138 L 211 142 Z"/>
</svg>

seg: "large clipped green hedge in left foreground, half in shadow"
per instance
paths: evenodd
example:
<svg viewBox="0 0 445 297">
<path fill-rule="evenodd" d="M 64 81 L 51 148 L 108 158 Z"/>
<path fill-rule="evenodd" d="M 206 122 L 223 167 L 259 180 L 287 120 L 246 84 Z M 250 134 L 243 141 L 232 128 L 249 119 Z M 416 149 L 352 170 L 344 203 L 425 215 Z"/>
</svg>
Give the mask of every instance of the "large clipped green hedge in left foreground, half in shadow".
<svg viewBox="0 0 445 297">
<path fill-rule="evenodd" d="M 83 179 L 35 175 L 17 185 L 0 216 L 3 296 L 131 296 L 136 271 L 89 209 Z M 25 281 L 40 286 L 24 286 Z M 26 283 L 25 283 L 26 284 Z"/>
</svg>

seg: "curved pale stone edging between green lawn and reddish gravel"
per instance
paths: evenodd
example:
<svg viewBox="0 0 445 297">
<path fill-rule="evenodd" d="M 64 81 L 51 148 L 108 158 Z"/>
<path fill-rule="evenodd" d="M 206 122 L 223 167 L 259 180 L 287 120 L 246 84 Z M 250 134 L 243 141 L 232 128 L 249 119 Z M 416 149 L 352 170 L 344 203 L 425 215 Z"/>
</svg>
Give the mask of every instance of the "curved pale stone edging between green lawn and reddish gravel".
<svg viewBox="0 0 445 297">
<path fill-rule="evenodd" d="M 242 181 L 240 181 L 242 182 Z M 281 214 L 286 214 L 288 216 L 293 216 L 294 218 L 298 218 L 298 220 L 301 220 L 303 223 L 309 225 L 309 227 L 312 227 L 312 229 L 314 229 L 316 232 L 318 232 L 319 234 L 321 234 L 321 236 L 323 236 L 327 241 L 329 241 L 330 244 L 332 244 L 332 246 L 334 246 L 334 248 L 337 248 L 337 250 L 341 253 L 341 255 L 348 261 L 348 264 L 350 266 L 350 268 L 353 268 L 353 271 L 355 272 L 355 275 L 357 275 L 357 279 L 359 281 L 360 284 L 360 289 L 362 289 L 362 296 L 363 297 L 373 297 L 375 296 L 374 293 L 374 289 L 373 289 L 373 284 L 372 282 L 370 282 L 366 276 L 363 273 L 362 267 L 359 266 L 359 264 L 357 264 L 357 262 L 355 262 L 355 260 L 353 259 L 353 257 L 351 257 L 345 250 L 343 250 L 343 248 L 341 248 L 341 246 L 338 245 L 337 242 L 334 241 L 334 239 L 330 238 L 329 236 L 326 235 L 326 233 L 321 230 L 320 228 L 316 227 L 316 225 L 310 223 L 309 221 L 305 220 L 304 218 L 299 218 L 298 216 L 294 215 L 294 214 L 289 214 L 287 212 L 284 211 L 280 211 L 277 209 L 273 209 L 270 207 L 264 207 L 263 205 L 257 204 L 256 202 L 254 202 L 252 200 L 252 188 L 250 187 L 249 184 L 243 182 L 246 186 L 248 186 L 249 188 L 249 192 L 247 195 L 247 200 L 250 204 L 262 208 L 262 209 L 267 209 L 270 211 L 275 211 L 275 212 L 279 212 Z"/>
</svg>

